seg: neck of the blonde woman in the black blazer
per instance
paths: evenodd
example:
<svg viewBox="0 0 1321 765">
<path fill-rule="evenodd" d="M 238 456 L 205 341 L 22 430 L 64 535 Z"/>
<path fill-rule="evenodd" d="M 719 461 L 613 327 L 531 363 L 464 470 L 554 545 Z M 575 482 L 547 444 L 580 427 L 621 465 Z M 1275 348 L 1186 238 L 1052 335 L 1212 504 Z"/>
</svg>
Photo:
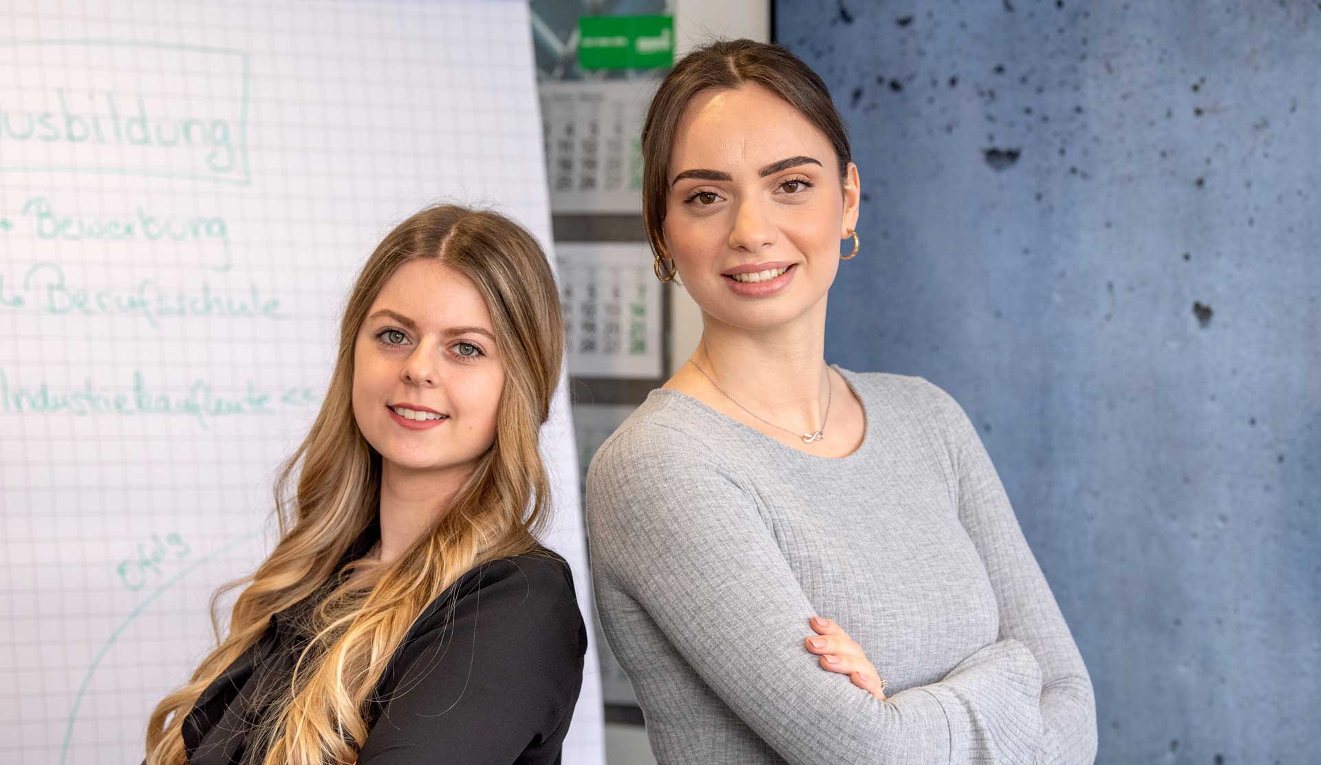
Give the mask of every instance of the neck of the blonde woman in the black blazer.
<svg viewBox="0 0 1321 765">
<path fill-rule="evenodd" d="M 411 470 L 388 460 L 380 465 L 380 562 L 390 563 L 449 509 L 449 501 L 472 473 L 462 469 Z"/>
</svg>

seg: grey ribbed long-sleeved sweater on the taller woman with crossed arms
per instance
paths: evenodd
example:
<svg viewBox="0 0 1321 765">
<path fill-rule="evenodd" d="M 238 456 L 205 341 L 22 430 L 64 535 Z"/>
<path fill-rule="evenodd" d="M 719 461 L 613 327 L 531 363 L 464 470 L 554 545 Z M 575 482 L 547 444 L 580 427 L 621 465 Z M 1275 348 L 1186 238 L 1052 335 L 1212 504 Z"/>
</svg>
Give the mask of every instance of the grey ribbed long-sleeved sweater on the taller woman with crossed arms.
<svg viewBox="0 0 1321 765">
<path fill-rule="evenodd" d="M 791 449 L 659 388 L 596 452 L 597 608 L 662 764 L 1091 762 L 1091 679 L 959 404 L 835 367 L 852 455 Z M 812 616 L 889 699 L 827 673 Z"/>
</svg>

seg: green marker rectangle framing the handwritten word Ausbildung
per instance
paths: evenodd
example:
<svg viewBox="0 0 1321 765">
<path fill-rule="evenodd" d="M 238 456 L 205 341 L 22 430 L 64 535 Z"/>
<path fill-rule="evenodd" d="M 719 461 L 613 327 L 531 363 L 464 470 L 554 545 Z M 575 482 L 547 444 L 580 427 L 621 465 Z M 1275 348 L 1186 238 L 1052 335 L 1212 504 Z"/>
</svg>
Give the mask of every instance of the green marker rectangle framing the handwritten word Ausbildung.
<svg viewBox="0 0 1321 765">
<path fill-rule="evenodd" d="M 144 61 L 156 71 L 143 75 Z M 41 67 L 41 77 L 22 86 L 21 103 L 0 103 L 0 173 L 251 184 L 247 52 L 132 40 L 0 41 L 0 67 L 22 66 Z"/>
</svg>

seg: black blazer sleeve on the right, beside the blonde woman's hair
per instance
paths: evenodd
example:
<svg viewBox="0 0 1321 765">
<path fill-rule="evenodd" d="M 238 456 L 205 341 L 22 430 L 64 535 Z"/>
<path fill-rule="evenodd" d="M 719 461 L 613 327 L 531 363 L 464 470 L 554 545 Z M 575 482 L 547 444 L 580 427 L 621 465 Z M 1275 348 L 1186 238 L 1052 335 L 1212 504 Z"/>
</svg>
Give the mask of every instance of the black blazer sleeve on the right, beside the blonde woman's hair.
<svg viewBox="0 0 1321 765">
<path fill-rule="evenodd" d="M 499 559 L 432 604 L 386 670 L 358 765 L 559 762 L 587 650 L 571 576 Z"/>
</svg>

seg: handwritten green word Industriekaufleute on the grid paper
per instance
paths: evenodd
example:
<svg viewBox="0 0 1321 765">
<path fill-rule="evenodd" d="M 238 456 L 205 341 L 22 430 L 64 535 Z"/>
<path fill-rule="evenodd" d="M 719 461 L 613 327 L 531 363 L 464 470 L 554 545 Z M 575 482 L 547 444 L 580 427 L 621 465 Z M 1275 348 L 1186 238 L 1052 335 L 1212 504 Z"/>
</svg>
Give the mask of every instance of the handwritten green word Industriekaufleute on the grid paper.
<svg viewBox="0 0 1321 765">
<path fill-rule="evenodd" d="M 46 382 L 25 388 L 20 384 L 11 387 L 9 375 L 0 369 L 0 414 L 184 415 L 193 418 L 206 431 L 217 418 L 273 415 L 275 407 L 314 407 L 321 403 L 321 398 L 305 386 L 259 390 L 251 379 L 246 381 L 242 392 L 235 392 L 234 386 L 225 386 L 219 391 L 201 378 L 182 387 L 170 386 L 170 392 L 161 392 L 147 386 L 141 370 L 133 370 L 131 392 L 94 387 L 90 377 L 83 378 L 82 388 L 53 390 Z"/>
</svg>

